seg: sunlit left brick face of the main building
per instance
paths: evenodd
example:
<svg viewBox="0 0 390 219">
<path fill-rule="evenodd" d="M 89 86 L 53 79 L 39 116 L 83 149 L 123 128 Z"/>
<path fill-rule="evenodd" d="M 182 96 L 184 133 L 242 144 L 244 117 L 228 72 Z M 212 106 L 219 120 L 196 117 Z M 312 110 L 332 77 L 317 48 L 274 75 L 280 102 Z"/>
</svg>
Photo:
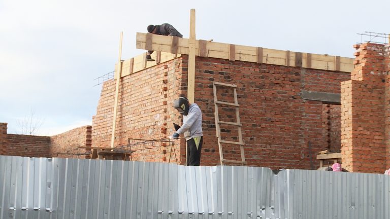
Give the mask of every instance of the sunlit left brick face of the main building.
<svg viewBox="0 0 390 219">
<path fill-rule="evenodd" d="M 179 123 L 181 119 L 172 104 L 180 94 L 186 92 L 187 79 L 180 74 L 182 68 L 181 58 L 178 58 L 121 78 L 114 141 L 116 147 L 125 147 L 128 138 L 165 139 L 173 134 L 172 123 Z M 92 119 L 93 147 L 110 147 L 115 83 L 113 80 L 103 85 L 96 116 Z M 177 155 L 180 150 L 185 151 L 185 141 L 176 140 L 175 144 Z M 131 140 L 131 145 L 132 150 L 137 149 L 132 155 L 133 160 L 169 160 L 171 148 L 166 147 L 167 143 Z M 184 153 L 179 161 L 184 164 Z"/>
</svg>

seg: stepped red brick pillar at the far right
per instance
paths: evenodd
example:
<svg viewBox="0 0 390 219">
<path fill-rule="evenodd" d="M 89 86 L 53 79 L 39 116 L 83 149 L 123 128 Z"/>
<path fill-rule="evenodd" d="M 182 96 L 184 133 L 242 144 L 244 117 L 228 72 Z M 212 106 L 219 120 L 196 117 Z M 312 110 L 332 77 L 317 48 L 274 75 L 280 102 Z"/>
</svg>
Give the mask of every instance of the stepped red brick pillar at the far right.
<svg viewBox="0 0 390 219">
<path fill-rule="evenodd" d="M 355 45 L 351 80 L 341 83 L 341 154 L 352 172 L 383 173 L 385 144 L 384 45 Z M 388 150 L 387 150 L 388 151 Z"/>
</svg>

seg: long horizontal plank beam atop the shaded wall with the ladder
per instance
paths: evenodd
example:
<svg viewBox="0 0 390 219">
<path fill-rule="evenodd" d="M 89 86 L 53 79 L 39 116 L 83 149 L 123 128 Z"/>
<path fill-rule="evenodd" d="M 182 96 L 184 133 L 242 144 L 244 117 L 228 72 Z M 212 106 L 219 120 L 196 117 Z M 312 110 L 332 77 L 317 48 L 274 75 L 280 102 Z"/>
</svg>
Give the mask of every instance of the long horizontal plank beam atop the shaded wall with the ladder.
<svg viewBox="0 0 390 219">
<path fill-rule="evenodd" d="M 137 48 L 146 49 L 147 46 L 147 34 L 137 33 Z M 171 52 L 172 51 L 172 38 L 173 36 L 156 35 L 152 37 L 152 50 Z M 149 38 L 148 38 L 149 39 Z M 189 41 L 185 38 L 178 38 L 177 44 L 175 42 L 174 48 L 178 54 L 189 54 L 188 45 Z M 287 54 L 287 55 L 286 55 Z M 259 47 L 241 46 L 231 44 L 196 41 L 196 55 L 201 57 L 220 58 L 227 60 L 241 60 L 247 62 L 284 65 L 291 67 L 305 67 L 313 69 L 323 70 L 335 70 L 339 69 L 344 72 L 351 72 L 354 68 L 353 58 L 337 57 L 330 55 L 319 54 L 307 54 L 274 50 Z M 259 57 L 262 56 L 262 57 Z M 309 60 L 308 60 L 309 59 Z M 302 66 L 301 66 L 302 65 Z"/>
</svg>

